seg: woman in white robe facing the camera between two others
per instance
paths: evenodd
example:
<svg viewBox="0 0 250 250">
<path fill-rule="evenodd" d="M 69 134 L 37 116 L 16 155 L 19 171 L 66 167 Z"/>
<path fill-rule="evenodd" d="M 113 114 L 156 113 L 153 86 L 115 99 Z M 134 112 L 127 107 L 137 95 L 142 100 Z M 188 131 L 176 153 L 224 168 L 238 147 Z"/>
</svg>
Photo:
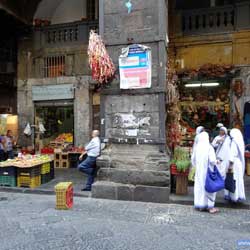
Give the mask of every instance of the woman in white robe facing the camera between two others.
<svg viewBox="0 0 250 250">
<path fill-rule="evenodd" d="M 226 178 L 226 171 L 229 166 L 231 138 L 225 127 L 220 128 L 220 134 L 216 136 L 212 142 L 215 149 L 217 165 L 222 177 Z"/>
</svg>

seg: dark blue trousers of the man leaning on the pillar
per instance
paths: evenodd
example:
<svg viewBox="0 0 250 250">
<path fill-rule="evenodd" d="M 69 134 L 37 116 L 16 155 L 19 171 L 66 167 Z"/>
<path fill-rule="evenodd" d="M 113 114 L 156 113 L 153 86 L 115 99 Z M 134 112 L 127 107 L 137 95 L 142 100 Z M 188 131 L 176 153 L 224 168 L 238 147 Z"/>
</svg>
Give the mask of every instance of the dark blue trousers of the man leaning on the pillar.
<svg viewBox="0 0 250 250">
<path fill-rule="evenodd" d="M 78 170 L 88 175 L 86 188 L 91 189 L 95 179 L 96 157 L 88 156 L 82 163 L 78 165 Z"/>
</svg>

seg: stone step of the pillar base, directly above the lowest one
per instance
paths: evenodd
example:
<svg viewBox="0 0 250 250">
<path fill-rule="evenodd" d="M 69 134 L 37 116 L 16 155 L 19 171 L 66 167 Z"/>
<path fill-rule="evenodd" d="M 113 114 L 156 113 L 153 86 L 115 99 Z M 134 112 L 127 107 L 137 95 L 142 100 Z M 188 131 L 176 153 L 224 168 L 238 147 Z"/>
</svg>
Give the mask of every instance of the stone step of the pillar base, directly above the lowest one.
<svg viewBox="0 0 250 250">
<path fill-rule="evenodd" d="M 98 172 L 98 180 L 110 181 L 122 184 L 148 185 L 169 187 L 169 171 L 152 171 L 138 169 L 101 168 Z"/>
</svg>

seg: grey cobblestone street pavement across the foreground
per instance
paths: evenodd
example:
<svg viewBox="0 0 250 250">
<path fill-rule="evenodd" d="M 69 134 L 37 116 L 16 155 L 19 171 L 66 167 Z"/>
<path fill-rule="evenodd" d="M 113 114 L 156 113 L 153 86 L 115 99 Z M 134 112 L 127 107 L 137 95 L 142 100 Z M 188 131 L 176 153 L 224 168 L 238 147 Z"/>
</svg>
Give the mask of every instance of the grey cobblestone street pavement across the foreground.
<svg viewBox="0 0 250 250">
<path fill-rule="evenodd" d="M 55 196 L 0 192 L 1 250 L 222 250 L 250 240 L 250 211 L 217 215 L 191 206 L 75 198 L 55 210 Z"/>
</svg>

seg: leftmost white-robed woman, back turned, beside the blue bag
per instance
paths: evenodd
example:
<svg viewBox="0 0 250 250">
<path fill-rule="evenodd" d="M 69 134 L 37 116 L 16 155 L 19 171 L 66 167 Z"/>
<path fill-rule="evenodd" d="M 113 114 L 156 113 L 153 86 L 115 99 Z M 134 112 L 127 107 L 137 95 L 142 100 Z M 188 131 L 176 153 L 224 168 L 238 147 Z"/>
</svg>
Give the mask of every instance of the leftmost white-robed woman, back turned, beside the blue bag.
<svg viewBox="0 0 250 250">
<path fill-rule="evenodd" d="M 210 213 L 218 212 L 214 207 L 216 193 L 207 193 L 205 182 L 207 170 L 213 169 L 216 163 L 216 155 L 213 147 L 209 143 L 209 135 L 202 132 L 197 136 L 192 165 L 196 167 L 194 182 L 194 207 L 200 210 L 208 210 Z"/>
</svg>

